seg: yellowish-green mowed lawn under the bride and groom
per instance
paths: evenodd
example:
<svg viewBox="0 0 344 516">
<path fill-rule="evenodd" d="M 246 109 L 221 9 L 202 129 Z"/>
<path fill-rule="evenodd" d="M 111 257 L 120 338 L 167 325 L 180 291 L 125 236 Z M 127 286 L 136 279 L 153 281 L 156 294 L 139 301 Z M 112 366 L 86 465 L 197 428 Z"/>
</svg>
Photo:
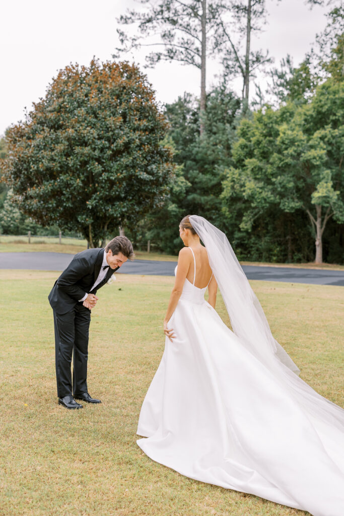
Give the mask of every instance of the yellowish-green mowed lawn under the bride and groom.
<svg viewBox="0 0 344 516">
<path fill-rule="evenodd" d="M 88 385 L 103 402 L 78 411 L 58 406 L 47 301 L 57 276 L 0 271 L 1 516 L 306 514 L 183 477 L 137 446 L 173 278 L 121 275 L 99 291 Z M 342 406 L 344 288 L 251 284 L 302 378 Z M 224 317 L 222 301 L 217 308 Z"/>
</svg>

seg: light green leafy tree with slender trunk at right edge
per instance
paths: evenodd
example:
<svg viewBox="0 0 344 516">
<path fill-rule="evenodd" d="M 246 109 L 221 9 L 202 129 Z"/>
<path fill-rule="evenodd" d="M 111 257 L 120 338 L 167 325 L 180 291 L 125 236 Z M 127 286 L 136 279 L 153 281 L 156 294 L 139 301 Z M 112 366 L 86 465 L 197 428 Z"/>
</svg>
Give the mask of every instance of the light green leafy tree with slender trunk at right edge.
<svg viewBox="0 0 344 516">
<path fill-rule="evenodd" d="M 258 230 L 262 239 L 264 226 L 270 223 L 270 233 L 272 224 L 287 242 L 282 247 L 288 261 L 294 252 L 302 253 L 301 242 L 313 230 L 316 262 L 321 263 L 327 221 L 344 222 L 343 120 L 344 83 L 334 79 L 319 86 L 308 104 L 267 108 L 243 120 L 233 151 L 235 165 L 224 181 L 226 218 L 233 218 L 235 205 L 240 229 Z M 275 214 L 271 221 L 268 213 Z M 305 216 L 310 228 L 302 227 Z"/>
</svg>

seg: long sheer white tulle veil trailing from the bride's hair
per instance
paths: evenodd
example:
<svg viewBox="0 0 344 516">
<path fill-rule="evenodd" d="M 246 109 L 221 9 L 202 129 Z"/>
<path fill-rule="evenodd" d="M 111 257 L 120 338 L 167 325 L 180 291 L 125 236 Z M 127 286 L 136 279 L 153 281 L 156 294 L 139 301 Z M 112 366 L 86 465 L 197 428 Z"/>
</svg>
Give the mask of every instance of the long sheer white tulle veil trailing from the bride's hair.
<svg viewBox="0 0 344 516">
<path fill-rule="evenodd" d="M 203 217 L 191 215 L 189 220 L 206 247 L 210 267 L 240 343 L 288 386 L 309 414 L 342 429 L 344 410 L 299 378 L 299 368 L 273 337 L 264 311 L 226 235 Z"/>
</svg>

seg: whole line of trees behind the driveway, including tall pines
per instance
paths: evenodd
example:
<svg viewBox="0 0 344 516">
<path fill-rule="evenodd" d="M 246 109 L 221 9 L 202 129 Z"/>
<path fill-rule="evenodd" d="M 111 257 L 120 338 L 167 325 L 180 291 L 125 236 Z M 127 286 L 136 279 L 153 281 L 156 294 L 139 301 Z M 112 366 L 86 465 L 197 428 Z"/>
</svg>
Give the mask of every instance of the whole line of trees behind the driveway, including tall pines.
<svg viewBox="0 0 344 516">
<path fill-rule="evenodd" d="M 146 76 L 126 61 L 61 70 L 1 140 L 2 231 L 16 214 L 17 226 L 55 224 L 97 246 L 121 227 L 137 247 L 150 240 L 176 253 L 178 223 L 196 213 L 226 231 L 241 260 L 344 263 L 343 6 L 330 11 L 299 67 L 287 56 L 270 69 L 269 103 L 259 88 L 249 101 L 255 67 L 269 62 L 250 50 L 265 3 L 231 8 L 229 19 L 228 2 L 163 0 L 154 12 L 120 19 L 139 24 L 134 38 L 120 30 L 120 50 L 159 28 L 162 50 L 149 65 L 198 67 L 199 98 L 185 93 L 161 110 Z M 224 70 L 207 92 L 209 48 Z M 239 96 L 228 87 L 236 72 Z"/>
</svg>

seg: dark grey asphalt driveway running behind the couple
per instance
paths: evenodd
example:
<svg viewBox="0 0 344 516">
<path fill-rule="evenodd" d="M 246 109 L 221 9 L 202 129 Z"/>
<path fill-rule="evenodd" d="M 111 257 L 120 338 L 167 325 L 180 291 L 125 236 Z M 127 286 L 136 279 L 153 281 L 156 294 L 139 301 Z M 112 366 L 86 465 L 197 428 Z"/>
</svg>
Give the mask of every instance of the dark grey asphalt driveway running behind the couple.
<svg viewBox="0 0 344 516">
<path fill-rule="evenodd" d="M 0 253 L 0 269 L 63 270 L 72 260 L 64 253 Z M 176 262 L 135 260 L 126 262 L 116 273 L 173 276 Z M 298 269 L 293 267 L 266 267 L 244 265 L 249 280 L 286 281 L 318 285 L 344 286 L 344 270 Z"/>
</svg>

